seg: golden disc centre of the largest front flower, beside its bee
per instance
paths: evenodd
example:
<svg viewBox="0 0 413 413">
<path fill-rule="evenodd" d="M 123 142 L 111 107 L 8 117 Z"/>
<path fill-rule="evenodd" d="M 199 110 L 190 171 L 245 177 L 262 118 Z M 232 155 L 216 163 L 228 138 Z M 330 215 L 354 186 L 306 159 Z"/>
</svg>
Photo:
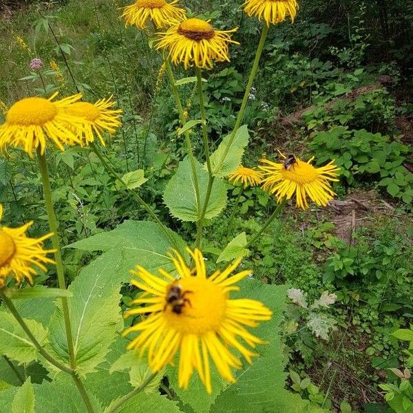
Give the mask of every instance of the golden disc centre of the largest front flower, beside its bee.
<svg viewBox="0 0 413 413">
<path fill-rule="evenodd" d="M 165 309 L 169 327 L 182 334 L 202 334 L 218 330 L 225 316 L 226 297 L 222 288 L 208 279 L 185 277 L 178 284 L 182 290 L 184 304 L 177 314 L 170 304 Z"/>
</svg>

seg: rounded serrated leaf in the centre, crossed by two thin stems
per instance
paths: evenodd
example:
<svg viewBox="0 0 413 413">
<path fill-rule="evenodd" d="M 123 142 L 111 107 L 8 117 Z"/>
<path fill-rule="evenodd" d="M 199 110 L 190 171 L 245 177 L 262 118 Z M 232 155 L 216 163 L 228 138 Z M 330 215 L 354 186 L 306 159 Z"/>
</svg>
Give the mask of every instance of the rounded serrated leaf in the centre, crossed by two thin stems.
<svg viewBox="0 0 413 413">
<path fill-rule="evenodd" d="M 195 167 L 202 206 L 207 195 L 209 176 L 198 160 L 195 160 Z M 196 204 L 195 184 L 189 158 L 185 158 L 179 163 L 176 174 L 167 183 L 164 201 L 173 217 L 182 221 L 198 221 L 200 211 Z M 225 205 L 226 184 L 222 180 L 215 178 L 205 218 L 211 219 L 215 217 L 224 209 Z M 200 209 L 202 210 L 202 207 Z"/>
</svg>

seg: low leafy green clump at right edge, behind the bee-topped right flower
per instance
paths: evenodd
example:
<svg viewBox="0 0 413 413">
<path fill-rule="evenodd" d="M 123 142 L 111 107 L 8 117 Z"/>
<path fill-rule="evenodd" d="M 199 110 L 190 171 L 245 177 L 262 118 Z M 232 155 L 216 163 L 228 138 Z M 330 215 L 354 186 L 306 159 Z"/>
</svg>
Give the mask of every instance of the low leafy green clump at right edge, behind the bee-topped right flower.
<svg viewBox="0 0 413 413">
<path fill-rule="evenodd" d="M 410 150 L 401 142 L 364 129 L 349 131 L 335 127 L 317 134 L 310 147 L 317 153 L 319 164 L 335 159 L 348 184 L 377 182 L 392 197 L 406 204 L 412 202 L 413 176 L 402 165 Z"/>
</svg>

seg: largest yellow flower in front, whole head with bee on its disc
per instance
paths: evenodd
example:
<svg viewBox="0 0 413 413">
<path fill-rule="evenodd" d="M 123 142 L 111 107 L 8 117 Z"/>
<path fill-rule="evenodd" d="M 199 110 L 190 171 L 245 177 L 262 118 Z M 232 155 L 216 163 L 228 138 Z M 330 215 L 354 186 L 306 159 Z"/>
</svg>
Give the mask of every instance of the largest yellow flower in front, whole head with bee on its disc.
<svg viewBox="0 0 413 413">
<path fill-rule="evenodd" d="M 132 279 L 131 284 L 145 292 L 134 304 L 147 306 L 132 308 L 125 317 L 148 313 L 149 316 L 142 317 L 138 324 L 125 330 L 124 335 L 138 332 L 128 348 L 139 349 L 140 357 L 147 353 L 153 372 L 171 363 L 180 350 L 180 387 L 187 388 L 193 370 L 197 370 L 207 392 L 211 393 L 210 358 L 226 381 L 235 382 L 231 368 L 240 369 L 242 363 L 230 348 L 252 363 L 252 357 L 257 354 L 245 344 L 255 348 L 263 341 L 244 326 L 255 327 L 258 321 L 271 319 L 272 313 L 260 301 L 230 298 L 231 291 L 240 289 L 234 284 L 250 273 L 242 271 L 231 275 L 241 260 L 207 277 L 202 253 L 198 249 L 187 248 L 187 251 L 193 259 L 193 268 L 187 266 L 178 252 L 170 255 L 178 279 L 162 269 L 160 276 L 140 266 L 132 271 L 138 279 Z"/>
</svg>

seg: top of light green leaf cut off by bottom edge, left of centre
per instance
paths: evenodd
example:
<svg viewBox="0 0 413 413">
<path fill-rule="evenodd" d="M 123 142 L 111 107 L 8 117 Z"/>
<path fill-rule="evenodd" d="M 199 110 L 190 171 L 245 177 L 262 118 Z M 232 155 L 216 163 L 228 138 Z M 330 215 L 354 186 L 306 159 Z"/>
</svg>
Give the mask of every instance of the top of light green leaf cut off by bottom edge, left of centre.
<svg viewBox="0 0 413 413">
<path fill-rule="evenodd" d="M 114 401 L 114 403 L 116 400 Z M 145 413 L 180 413 L 176 401 L 171 401 L 167 399 L 166 396 L 161 396 L 158 393 L 145 393 L 140 392 L 136 396 L 131 397 L 126 403 L 123 403 L 116 413 L 136 413 L 137 406 L 139 412 Z M 113 405 L 113 403 L 112 403 Z M 105 413 L 109 411 L 109 408 L 106 408 Z"/>
</svg>

